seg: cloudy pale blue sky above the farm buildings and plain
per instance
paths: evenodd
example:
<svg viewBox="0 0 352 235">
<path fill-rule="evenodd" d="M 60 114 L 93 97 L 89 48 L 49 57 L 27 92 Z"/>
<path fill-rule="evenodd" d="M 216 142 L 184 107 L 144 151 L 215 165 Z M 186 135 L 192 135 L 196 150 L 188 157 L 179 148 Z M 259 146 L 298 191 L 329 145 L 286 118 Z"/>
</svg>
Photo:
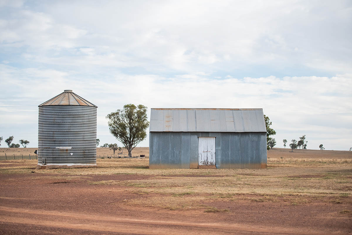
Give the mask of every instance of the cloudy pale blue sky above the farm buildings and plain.
<svg viewBox="0 0 352 235">
<path fill-rule="evenodd" d="M 348 150 L 352 2 L 0 0 L 0 87 L 1 147 L 37 147 L 38 105 L 72 89 L 100 145 L 119 144 L 108 113 L 143 104 L 263 108 L 278 148 Z"/>
</svg>

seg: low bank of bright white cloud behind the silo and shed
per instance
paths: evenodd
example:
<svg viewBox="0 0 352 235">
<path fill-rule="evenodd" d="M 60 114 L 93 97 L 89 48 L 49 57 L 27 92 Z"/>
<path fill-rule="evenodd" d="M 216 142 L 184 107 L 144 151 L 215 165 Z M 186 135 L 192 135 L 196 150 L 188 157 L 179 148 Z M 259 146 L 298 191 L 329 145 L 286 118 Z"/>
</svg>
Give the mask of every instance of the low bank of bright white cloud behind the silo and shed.
<svg viewBox="0 0 352 235">
<path fill-rule="evenodd" d="M 6 67 L 8 68 L 8 66 Z M 207 74 L 182 75 L 167 78 L 157 75 L 114 74 L 109 80 L 79 79 L 76 74 L 56 70 L 11 69 L 8 76 L 20 85 L 5 85 L 9 93 L 31 97 L 32 103 L 13 101 L 2 106 L 1 122 L 8 122 L 10 110 L 24 114 L 23 107 L 35 111 L 27 120 L 36 120 L 37 105 L 54 97 L 63 89 L 73 89 L 78 95 L 98 105 L 98 137 L 108 133 L 105 116 L 126 103 L 151 107 L 223 107 L 263 108 L 277 131 L 277 140 L 307 135 L 308 147 L 317 148 L 326 136 L 348 139 L 351 136 L 352 78 L 348 75 L 327 77 L 227 78 L 213 79 Z M 12 71 L 12 72 L 11 72 Z M 36 77 L 32 82 L 30 78 Z M 74 77 L 75 79 L 70 79 Z M 42 79 L 39 79 L 42 78 Z M 1 81 L 4 84 L 4 80 Z M 61 88 L 60 88 L 61 87 Z M 32 92 L 37 91 L 37 92 Z M 21 97 L 19 95 L 19 97 Z M 33 100 L 37 103 L 33 104 Z M 1 105 L 0 105 L 1 106 Z M 13 119 L 16 122 L 18 118 Z M 34 124 L 34 123 L 33 123 Z M 35 123 L 36 124 L 36 123 Z M 109 141 L 104 140 L 108 138 Z M 103 142 L 113 142 L 104 137 Z M 34 138 L 36 139 L 36 138 Z M 325 140 L 326 141 L 326 140 Z M 147 146 L 147 142 L 142 143 Z M 280 141 L 278 141 L 278 145 Z M 332 142 L 329 142 L 332 144 Z M 334 149 L 345 149 L 350 143 L 336 142 Z"/>
</svg>

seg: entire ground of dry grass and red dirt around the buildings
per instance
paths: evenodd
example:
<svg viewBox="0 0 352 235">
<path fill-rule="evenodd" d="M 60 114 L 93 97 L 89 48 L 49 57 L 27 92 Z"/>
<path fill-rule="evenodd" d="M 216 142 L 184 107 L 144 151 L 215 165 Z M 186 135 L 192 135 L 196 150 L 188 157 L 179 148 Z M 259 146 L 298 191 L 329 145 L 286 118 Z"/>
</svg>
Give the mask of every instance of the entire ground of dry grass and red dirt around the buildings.
<svg viewBox="0 0 352 235">
<path fill-rule="evenodd" d="M 148 169 L 148 161 L 48 170 L 0 161 L 0 234 L 352 233 L 350 151 L 277 148 L 255 170 Z"/>
</svg>

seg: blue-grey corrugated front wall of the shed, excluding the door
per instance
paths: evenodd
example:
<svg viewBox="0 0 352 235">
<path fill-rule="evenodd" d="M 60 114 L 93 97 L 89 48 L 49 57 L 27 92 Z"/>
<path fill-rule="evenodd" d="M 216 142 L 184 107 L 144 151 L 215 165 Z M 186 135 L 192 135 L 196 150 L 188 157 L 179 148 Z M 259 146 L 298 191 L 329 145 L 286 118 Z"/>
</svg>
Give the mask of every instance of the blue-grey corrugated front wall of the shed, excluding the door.
<svg viewBox="0 0 352 235">
<path fill-rule="evenodd" d="M 216 137 L 216 168 L 266 168 L 266 132 L 150 132 L 149 168 L 198 168 L 198 137 Z"/>
</svg>

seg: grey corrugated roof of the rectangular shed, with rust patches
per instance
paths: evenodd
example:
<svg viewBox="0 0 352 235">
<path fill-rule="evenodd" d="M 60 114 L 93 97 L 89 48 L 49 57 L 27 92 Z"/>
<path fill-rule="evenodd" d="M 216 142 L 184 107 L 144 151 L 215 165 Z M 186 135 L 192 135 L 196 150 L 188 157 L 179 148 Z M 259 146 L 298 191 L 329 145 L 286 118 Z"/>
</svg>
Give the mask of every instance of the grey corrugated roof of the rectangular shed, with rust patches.
<svg viewBox="0 0 352 235">
<path fill-rule="evenodd" d="M 149 131 L 266 132 L 263 109 L 151 109 Z"/>
</svg>

